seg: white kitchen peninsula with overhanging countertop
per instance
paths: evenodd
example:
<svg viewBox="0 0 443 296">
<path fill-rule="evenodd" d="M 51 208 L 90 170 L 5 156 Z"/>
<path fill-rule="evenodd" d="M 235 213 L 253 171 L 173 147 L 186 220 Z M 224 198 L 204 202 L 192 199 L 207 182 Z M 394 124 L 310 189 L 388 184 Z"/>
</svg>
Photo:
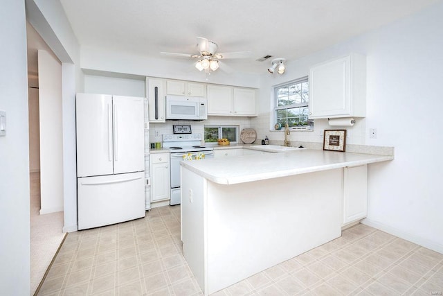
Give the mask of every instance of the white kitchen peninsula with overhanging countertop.
<svg viewBox="0 0 443 296">
<path fill-rule="evenodd" d="M 392 159 L 303 149 L 181 162 L 183 254 L 205 295 L 341 236 L 345 168 Z"/>
</svg>

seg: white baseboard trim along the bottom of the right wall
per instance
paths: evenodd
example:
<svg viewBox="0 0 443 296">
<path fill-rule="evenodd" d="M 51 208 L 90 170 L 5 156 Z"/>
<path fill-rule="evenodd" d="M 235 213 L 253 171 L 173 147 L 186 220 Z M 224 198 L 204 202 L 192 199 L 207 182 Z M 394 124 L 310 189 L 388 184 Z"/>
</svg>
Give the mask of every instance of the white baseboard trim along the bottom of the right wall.
<svg viewBox="0 0 443 296">
<path fill-rule="evenodd" d="M 403 232 L 400 229 L 380 223 L 378 221 L 370 220 L 368 218 L 361 220 L 361 223 L 443 254 L 443 245 L 440 243 L 435 243 L 435 241 L 429 241 L 427 238 L 422 238 L 420 236 L 416 236 L 415 234 Z"/>
</svg>

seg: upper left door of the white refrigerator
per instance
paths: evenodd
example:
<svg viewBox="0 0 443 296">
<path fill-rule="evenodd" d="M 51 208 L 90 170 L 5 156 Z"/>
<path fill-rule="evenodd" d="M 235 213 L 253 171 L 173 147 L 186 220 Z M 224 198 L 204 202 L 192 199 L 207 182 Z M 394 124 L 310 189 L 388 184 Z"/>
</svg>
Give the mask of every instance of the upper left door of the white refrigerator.
<svg viewBox="0 0 443 296">
<path fill-rule="evenodd" d="M 77 175 L 113 173 L 112 96 L 77 94 Z"/>
</svg>

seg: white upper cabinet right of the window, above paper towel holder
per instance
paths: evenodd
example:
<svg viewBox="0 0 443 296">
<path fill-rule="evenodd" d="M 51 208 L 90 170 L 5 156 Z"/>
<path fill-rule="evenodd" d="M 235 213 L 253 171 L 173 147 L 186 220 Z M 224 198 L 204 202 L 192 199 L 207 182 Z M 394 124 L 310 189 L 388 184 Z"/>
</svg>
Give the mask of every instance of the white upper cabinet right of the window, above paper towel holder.
<svg viewBox="0 0 443 296">
<path fill-rule="evenodd" d="M 309 70 L 309 119 L 366 116 L 366 57 L 352 53 Z"/>
</svg>

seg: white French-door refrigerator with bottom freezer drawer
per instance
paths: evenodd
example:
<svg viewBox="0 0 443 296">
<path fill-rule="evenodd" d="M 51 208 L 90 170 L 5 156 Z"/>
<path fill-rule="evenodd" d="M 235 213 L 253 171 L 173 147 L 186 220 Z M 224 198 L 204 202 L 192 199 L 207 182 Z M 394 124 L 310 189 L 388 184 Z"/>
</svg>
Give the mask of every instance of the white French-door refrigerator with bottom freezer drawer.
<svg viewBox="0 0 443 296">
<path fill-rule="evenodd" d="M 79 230 L 145 216 L 143 100 L 76 96 Z"/>
</svg>

